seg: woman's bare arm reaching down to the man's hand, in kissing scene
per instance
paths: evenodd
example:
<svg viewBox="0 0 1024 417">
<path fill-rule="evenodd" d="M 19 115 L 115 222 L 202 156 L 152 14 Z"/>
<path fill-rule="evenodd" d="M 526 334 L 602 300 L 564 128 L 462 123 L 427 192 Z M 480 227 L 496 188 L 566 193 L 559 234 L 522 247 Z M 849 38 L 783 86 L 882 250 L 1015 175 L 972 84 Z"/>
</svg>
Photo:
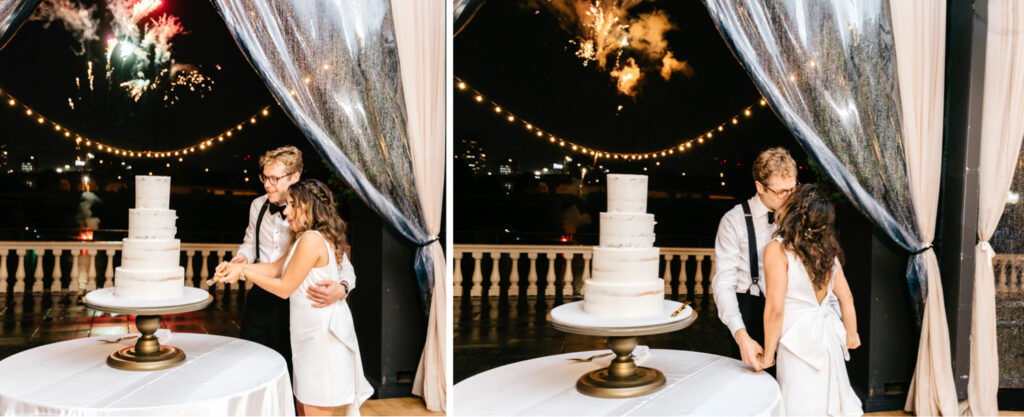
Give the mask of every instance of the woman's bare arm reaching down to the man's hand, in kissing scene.
<svg viewBox="0 0 1024 417">
<path fill-rule="evenodd" d="M 775 363 L 778 339 L 782 337 L 788 260 L 782 244 L 772 241 L 765 247 L 765 355 L 763 365 Z"/>
</svg>

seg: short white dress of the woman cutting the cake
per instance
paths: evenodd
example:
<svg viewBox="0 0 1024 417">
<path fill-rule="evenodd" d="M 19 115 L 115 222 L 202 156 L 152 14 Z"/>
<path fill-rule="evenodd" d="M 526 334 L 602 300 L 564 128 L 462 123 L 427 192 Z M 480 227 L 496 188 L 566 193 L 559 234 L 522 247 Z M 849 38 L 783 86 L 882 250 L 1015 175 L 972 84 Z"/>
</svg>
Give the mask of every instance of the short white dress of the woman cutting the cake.
<svg viewBox="0 0 1024 417">
<path fill-rule="evenodd" d="M 307 233 L 318 232 L 311 231 Z M 292 245 L 285 267 L 292 260 L 300 236 Z M 325 240 L 325 244 L 327 241 Z M 359 344 L 352 326 L 352 312 L 344 300 L 315 308 L 306 298 L 306 289 L 322 281 L 341 282 L 341 272 L 328 245 L 327 265 L 313 267 L 299 288 L 289 296 L 291 307 L 292 386 L 295 398 L 302 404 L 337 407 L 350 404 L 349 415 L 358 415 L 359 405 L 373 394 L 374 388 L 362 374 Z M 343 268 L 351 268 L 347 256 Z"/>
</svg>

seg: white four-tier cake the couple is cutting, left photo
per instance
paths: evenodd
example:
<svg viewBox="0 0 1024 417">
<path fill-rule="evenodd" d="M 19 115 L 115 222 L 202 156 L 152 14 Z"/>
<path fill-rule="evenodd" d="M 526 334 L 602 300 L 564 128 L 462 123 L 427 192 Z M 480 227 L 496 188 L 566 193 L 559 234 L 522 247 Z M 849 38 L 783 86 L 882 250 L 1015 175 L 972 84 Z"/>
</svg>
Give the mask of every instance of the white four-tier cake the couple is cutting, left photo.
<svg viewBox="0 0 1024 417">
<path fill-rule="evenodd" d="M 114 295 L 133 299 L 172 299 L 184 293 L 181 241 L 174 239 L 177 216 L 168 209 L 171 177 L 135 176 L 135 208 L 128 209 L 128 238 L 121 266 L 114 272 Z"/>
</svg>

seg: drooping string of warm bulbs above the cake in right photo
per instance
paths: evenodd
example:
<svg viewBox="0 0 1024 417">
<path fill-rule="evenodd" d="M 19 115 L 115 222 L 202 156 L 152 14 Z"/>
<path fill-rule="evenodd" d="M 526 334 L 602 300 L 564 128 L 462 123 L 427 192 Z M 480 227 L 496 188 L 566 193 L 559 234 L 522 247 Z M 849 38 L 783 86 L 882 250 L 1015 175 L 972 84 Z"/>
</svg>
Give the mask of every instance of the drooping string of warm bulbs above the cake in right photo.
<svg viewBox="0 0 1024 417">
<path fill-rule="evenodd" d="M 458 89 L 460 91 L 463 91 L 465 93 L 471 94 L 472 97 L 473 97 L 473 99 L 476 102 L 483 103 L 486 100 L 484 98 L 484 96 L 483 96 L 483 93 L 481 93 L 480 91 L 477 91 L 476 89 L 470 87 L 469 84 L 466 83 L 466 81 L 464 81 L 464 80 L 462 80 L 462 79 L 460 79 L 458 77 L 456 77 L 456 86 L 458 87 Z M 497 102 L 495 102 L 493 100 L 486 100 L 486 101 L 490 106 L 492 110 L 494 110 L 494 113 L 495 113 L 496 116 L 502 117 L 502 118 L 508 120 L 509 123 L 516 123 L 518 121 L 518 123 L 521 123 L 521 126 L 524 129 L 526 129 L 527 131 L 534 132 L 537 135 L 537 137 L 544 137 L 544 135 L 545 135 L 544 130 L 542 130 L 541 128 L 535 126 L 532 123 L 526 121 L 522 117 L 517 116 L 517 115 L 513 114 L 512 112 L 509 112 L 506 108 L 502 107 L 501 105 L 499 105 L 499 103 L 497 103 Z M 765 107 L 765 106 L 768 105 L 768 101 L 765 100 L 764 98 L 761 98 L 758 101 L 758 105 L 760 105 L 761 107 Z M 698 135 L 698 136 L 696 136 L 694 138 L 686 139 L 686 140 L 683 140 L 683 141 L 681 141 L 681 142 L 679 142 L 677 144 L 674 144 L 672 147 L 669 147 L 669 148 L 666 148 L 666 149 L 663 149 L 663 150 L 656 150 L 656 151 L 653 151 L 653 152 L 648 152 L 648 153 L 616 153 L 616 152 L 609 152 L 609 151 L 603 151 L 603 150 L 588 150 L 586 147 L 580 145 L 578 143 L 574 143 L 574 142 L 572 142 L 570 140 L 566 140 L 564 138 L 556 137 L 555 135 L 550 134 L 550 133 L 548 133 L 548 142 L 550 142 L 550 143 L 556 143 L 557 142 L 558 147 L 566 147 L 566 145 L 568 145 L 568 147 L 570 147 L 572 149 L 573 152 L 578 152 L 578 153 L 581 153 L 581 154 L 584 154 L 584 155 L 587 155 L 587 156 L 592 156 L 592 157 L 594 157 L 594 159 L 607 158 L 607 159 L 621 159 L 621 160 L 637 161 L 637 160 L 645 160 L 645 159 L 651 159 L 651 158 L 653 158 L 653 159 L 668 158 L 670 156 L 677 155 L 676 151 L 679 151 L 678 155 L 684 154 L 686 150 L 689 150 L 689 149 L 693 148 L 693 142 L 694 141 L 697 142 L 697 144 L 702 144 L 707 139 L 711 139 L 711 138 L 715 137 L 714 131 L 716 131 L 716 130 L 719 131 L 719 132 L 724 132 L 725 131 L 725 127 L 727 125 L 732 125 L 732 126 L 738 125 L 739 124 L 740 115 L 742 115 L 744 117 L 748 117 L 748 118 L 753 115 L 753 111 L 752 111 L 753 107 L 754 106 L 749 106 L 749 107 L 744 108 L 742 110 L 742 112 L 740 112 L 739 114 L 734 115 L 734 116 L 732 116 L 729 119 L 725 119 L 726 120 L 725 122 L 719 123 L 715 127 L 706 130 L 705 131 L 706 133 L 700 134 L 700 135 Z M 536 131 L 535 131 L 535 129 L 536 129 Z M 227 135 L 230 136 L 230 134 L 231 134 L 230 131 L 228 131 Z"/>
</svg>

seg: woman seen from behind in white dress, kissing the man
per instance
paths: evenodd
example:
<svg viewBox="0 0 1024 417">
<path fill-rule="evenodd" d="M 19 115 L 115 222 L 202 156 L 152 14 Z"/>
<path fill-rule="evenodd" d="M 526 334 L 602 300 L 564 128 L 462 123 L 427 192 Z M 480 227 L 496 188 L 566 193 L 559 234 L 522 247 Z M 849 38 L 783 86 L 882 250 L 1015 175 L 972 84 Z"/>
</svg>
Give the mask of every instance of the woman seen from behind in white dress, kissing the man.
<svg viewBox="0 0 1024 417">
<path fill-rule="evenodd" d="M 848 349 L 860 346 L 853 296 L 836 238 L 836 209 L 814 185 L 801 185 L 776 213 L 765 247 L 764 368 L 775 364 L 785 415 L 861 415 L 850 386 Z M 827 302 L 834 293 L 843 319 Z"/>
</svg>

